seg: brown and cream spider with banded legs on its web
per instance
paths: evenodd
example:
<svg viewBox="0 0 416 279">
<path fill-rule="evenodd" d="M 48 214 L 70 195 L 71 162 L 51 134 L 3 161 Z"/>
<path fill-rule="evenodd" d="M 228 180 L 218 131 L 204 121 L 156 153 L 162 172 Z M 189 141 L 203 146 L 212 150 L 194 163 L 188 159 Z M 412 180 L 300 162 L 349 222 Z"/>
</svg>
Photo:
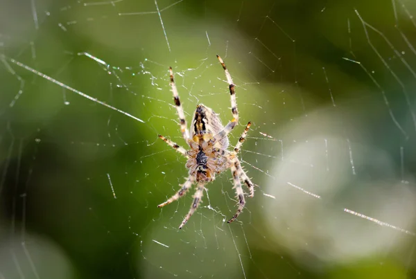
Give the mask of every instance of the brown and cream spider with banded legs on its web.
<svg viewBox="0 0 416 279">
<path fill-rule="evenodd" d="M 233 222 L 237 217 L 239 217 L 245 206 L 244 192 L 243 188 L 241 188 L 241 181 L 243 181 L 248 187 L 250 192 L 249 197 L 254 197 L 254 184 L 247 174 L 245 174 L 243 168 L 241 168 L 240 161 L 237 158 L 237 154 L 239 153 L 241 145 L 243 145 L 245 141 L 245 136 L 247 136 L 251 123 L 249 122 L 247 126 L 245 126 L 244 132 L 241 134 L 234 151 L 228 151 L 227 135 L 239 123 L 239 111 L 237 111 L 236 93 L 234 91 L 234 83 L 232 82 L 231 75 L 229 74 L 227 66 L 225 66 L 221 57 L 217 55 L 217 58 L 223 66 L 225 77 L 227 78 L 227 82 L 229 84 L 233 118 L 225 127 L 223 127 L 218 114 L 214 113 L 212 109 L 206 107 L 205 105 L 197 105 L 191 125 L 191 136 L 189 136 L 184 110 L 179 100 L 175 81 L 173 80 L 173 71 L 172 68 L 169 67 L 173 100 L 180 119 L 180 130 L 182 132 L 182 137 L 187 142 L 190 149 L 185 150 L 183 147 L 180 147 L 164 136 L 159 135 L 159 138 L 188 159 L 186 167 L 189 170 L 189 177 L 187 178 L 187 181 L 182 184 L 182 188 L 180 188 L 175 195 L 170 197 L 163 204 L 159 204 L 157 207 L 161 208 L 162 206 L 171 204 L 171 202 L 184 196 L 193 183 L 197 184 L 195 195 L 193 195 L 191 209 L 182 221 L 182 224 L 180 224 L 179 228 L 182 228 L 185 224 L 187 224 L 191 215 L 193 215 L 198 208 L 205 189 L 205 184 L 213 181 L 216 174 L 220 174 L 227 169 L 231 169 L 232 178 L 234 180 L 234 188 L 236 190 L 236 198 L 239 199 L 236 214 L 228 220 L 228 223 Z"/>
</svg>

